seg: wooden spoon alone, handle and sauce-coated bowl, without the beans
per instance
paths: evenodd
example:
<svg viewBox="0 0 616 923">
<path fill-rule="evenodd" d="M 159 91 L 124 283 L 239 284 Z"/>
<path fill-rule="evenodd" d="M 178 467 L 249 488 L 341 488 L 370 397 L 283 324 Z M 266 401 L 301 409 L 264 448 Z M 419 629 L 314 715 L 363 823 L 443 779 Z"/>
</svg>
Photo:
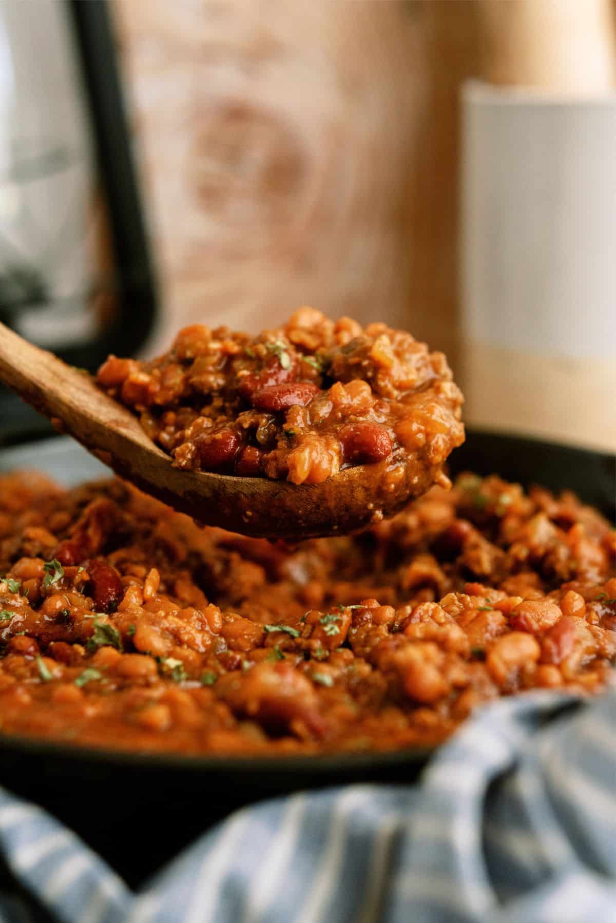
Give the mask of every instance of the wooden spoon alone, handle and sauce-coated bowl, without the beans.
<svg viewBox="0 0 616 923">
<path fill-rule="evenodd" d="M 141 490 L 200 522 L 246 535 L 298 540 L 347 533 L 391 515 L 439 478 L 438 466 L 426 468 L 414 459 L 394 472 L 387 460 L 348 468 L 316 485 L 182 471 L 88 373 L 4 324 L 0 380 Z"/>
</svg>

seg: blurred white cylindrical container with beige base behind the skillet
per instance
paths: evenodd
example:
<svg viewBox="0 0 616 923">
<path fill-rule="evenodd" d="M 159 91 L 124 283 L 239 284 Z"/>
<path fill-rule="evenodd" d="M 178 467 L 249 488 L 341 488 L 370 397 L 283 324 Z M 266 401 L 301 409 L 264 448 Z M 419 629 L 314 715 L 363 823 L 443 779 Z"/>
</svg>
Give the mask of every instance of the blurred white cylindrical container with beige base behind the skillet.
<svg viewBox="0 0 616 923">
<path fill-rule="evenodd" d="M 463 90 L 466 421 L 616 450 L 616 95 Z"/>
</svg>

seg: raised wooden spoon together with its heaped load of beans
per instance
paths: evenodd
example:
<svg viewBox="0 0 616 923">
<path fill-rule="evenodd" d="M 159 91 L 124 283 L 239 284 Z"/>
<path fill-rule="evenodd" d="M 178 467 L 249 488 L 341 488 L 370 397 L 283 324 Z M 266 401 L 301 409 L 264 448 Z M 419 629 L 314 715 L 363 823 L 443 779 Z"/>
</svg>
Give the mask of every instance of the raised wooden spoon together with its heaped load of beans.
<svg viewBox="0 0 616 923">
<path fill-rule="evenodd" d="M 441 353 L 303 307 L 256 337 L 195 325 L 96 379 L 0 324 L 0 379 L 121 477 L 195 519 L 347 533 L 448 483 L 462 395 Z"/>
</svg>

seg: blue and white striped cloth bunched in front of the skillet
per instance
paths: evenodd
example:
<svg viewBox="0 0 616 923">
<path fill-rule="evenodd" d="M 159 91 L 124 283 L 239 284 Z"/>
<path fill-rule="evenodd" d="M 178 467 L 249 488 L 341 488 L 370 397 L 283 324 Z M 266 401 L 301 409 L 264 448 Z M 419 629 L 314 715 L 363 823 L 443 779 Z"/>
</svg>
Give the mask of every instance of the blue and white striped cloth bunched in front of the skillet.
<svg viewBox="0 0 616 923">
<path fill-rule="evenodd" d="M 243 809 L 139 893 L 2 790 L 0 847 L 25 892 L 68 923 L 611 923 L 616 689 L 498 701 L 418 785 Z M 7 895 L 0 914 L 40 918 Z"/>
</svg>

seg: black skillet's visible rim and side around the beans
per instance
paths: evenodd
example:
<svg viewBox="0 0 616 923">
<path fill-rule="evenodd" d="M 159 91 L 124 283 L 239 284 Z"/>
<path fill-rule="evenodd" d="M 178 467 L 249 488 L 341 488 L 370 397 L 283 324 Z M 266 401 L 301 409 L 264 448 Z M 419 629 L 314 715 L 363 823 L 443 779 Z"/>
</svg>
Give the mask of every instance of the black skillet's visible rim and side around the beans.
<svg viewBox="0 0 616 923">
<path fill-rule="evenodd" d="M 0 452 L 0 472 L 37 468 L 71 485 L 108 474 L 70 439 Z M 524 485 L 573 489 L 614 519 L 616 457 L 534 439 L 471 432 L 451 472 L 500 473 Z M 284 759 L 148 756 L 0 738 L 0 784 L 49 809 L 131 884 L 199 833 L 262 797 L 350 782 L 408 782 L 429 749 Z"/>
</svg>

